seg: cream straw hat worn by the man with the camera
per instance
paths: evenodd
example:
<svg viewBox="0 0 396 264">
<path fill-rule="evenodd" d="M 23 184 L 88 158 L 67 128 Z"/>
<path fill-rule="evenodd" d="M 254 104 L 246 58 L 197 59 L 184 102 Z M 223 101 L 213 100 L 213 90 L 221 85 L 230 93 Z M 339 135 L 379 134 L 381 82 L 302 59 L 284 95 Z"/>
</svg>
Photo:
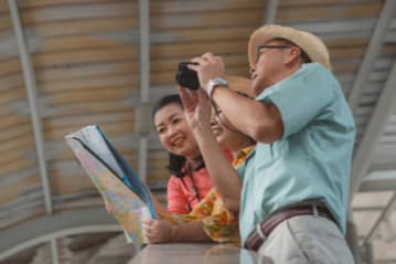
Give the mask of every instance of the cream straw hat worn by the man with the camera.
<svg viewBox="0 0 396 264">
<path fill-rule="evenodd" d="M 318 62 L 328 70 L 331 70 L 329 51 L 318 36 L 306 31 L 277 24 L 261 27 L 250 35 L 248 44 L 250 67 L 256 64 L 257 47 L 271 39 L 285 39 L 291 41 L 304 51 L 312 62 Z"/>
</svg>

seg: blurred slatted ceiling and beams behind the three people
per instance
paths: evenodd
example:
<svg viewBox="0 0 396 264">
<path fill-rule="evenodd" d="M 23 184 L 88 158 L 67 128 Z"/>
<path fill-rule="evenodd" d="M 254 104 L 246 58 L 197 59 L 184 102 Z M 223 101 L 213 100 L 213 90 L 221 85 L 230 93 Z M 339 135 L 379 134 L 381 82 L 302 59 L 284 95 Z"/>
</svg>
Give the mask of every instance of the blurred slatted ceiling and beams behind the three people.
<svg viewBox="0 0 396 264">
<path fill-rule="evenodd" d="M 267 23 L 328 45 L 358 129 L 349 241 L 356 263 L 396 263 L 394 0 L 0 0 L 0 263 L 132 258 L 64 136 L 99 125 L 165 202 L 150 105 L 207 51 L 248 77 L 248 38 Z"/>
</svg>

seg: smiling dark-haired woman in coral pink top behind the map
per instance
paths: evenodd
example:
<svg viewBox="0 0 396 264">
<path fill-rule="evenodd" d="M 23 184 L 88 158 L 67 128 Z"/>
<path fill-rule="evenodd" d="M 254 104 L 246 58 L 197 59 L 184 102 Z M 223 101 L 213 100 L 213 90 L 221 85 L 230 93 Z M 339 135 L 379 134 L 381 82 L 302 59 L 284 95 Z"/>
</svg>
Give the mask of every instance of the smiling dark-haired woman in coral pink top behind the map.
<svg viewBox="0 0 396 264">
<path fill-rule="evenodd" d="M 169 152 L 168 211 L 189 213 L 212 189 L 194 135 L 186 123 L 178 94 L 162 97 L 153 108 L 152 119 L 162 146 Z"/>
</svg>

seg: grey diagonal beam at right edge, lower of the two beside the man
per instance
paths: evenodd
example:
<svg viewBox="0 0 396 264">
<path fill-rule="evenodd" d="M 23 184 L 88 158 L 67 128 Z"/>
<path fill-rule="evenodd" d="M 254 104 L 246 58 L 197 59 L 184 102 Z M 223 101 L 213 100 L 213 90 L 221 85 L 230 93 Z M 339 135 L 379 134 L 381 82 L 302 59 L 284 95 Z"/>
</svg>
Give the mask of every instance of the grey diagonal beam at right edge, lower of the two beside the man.
<svg viewBox="0 0 396 264">
<path fill-rule="evenodd" d="M 362 140 L 355 151 L 351 170 L 351 196 L 358 190 L 364 176 L 367 173 L 368 166 L 373 156 L 373 149 L 382 136 L 382 133 L 389 120 L 396 105 L 396 62 L 394 63 L 389 77 L 385 83 L 383 92 L 377 101 L 372 117 L 363 134 Z"/>
</svg>

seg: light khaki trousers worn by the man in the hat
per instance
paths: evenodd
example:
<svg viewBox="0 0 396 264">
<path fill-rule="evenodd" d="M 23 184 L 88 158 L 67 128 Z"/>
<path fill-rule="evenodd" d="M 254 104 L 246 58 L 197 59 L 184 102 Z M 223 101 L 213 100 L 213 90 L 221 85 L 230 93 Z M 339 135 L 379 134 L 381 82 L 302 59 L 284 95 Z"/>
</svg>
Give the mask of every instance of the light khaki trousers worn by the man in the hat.
<svg viewBox="0 0 396 264">
<path fill-rule="evenodd" d="M 335 223 L 314 215 L 299 215 L 281 222 L 259 247 L 258 254 L 263 264 L 354 263 Z"/>
</svg>

